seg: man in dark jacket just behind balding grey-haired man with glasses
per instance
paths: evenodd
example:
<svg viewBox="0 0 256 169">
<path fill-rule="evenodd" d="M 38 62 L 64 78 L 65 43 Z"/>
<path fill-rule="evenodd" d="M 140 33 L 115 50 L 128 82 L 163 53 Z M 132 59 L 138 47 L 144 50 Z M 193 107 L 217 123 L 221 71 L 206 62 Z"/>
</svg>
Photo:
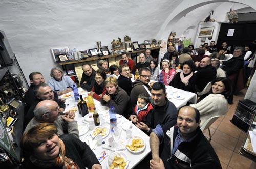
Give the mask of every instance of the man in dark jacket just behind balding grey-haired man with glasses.
<svg viewBox="0 0 256 169">
<path fill-rule="evenodd" d="M 42 100 L 54 100 L 58 103 L 60 107 L 60 111 L 65 110 L 65 103 L 57 98 L 54 97 L 53 90 L 50 88 L 49 85 L 46 83 L 39 83 L 37 86 L 34 87 L 34 94 L 35 94 L 35 101 L 33 105 L 30 106 L 27 113 L 25 112 L 25 126 L 29 123 L 29 121 L 34 117 L 34 109 L 35 106 Z"/>
</svg>

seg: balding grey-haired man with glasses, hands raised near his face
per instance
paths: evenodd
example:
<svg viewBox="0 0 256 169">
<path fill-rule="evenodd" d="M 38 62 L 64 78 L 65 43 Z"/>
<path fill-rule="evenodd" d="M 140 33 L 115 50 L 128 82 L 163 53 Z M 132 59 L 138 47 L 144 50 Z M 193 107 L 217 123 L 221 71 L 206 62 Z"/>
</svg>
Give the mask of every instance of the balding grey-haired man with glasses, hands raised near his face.
<svg viewBox="0 0 256 169">
<path fill-rule="evenodd" d="M 33 126 L 39 123 L 54 123 L 57 127 L 57 135 L 63 135 L 65 133 L 74 134 L 79 138 L 79 132 L 77 128 L 77 121 L 74 120 L 75 113 L 73 111 L 66 112 L 65 115 L 59 115 L 59 106 L 56 101 L 43 100 L 40 101 L 34 110 L 35 117 L 29 122 L 25 128 L 25 132 L 31 129 Z"/>
</svg>

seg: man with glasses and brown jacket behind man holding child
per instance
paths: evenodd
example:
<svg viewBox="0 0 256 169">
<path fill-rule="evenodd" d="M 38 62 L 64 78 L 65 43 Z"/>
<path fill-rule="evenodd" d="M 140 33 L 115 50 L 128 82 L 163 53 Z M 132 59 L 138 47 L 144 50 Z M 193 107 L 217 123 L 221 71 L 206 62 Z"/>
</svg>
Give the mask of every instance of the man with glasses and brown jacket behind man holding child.
<svg viewBox="0 0 256 169">
<path fill-rule="evenodd" d="M 147 97 L 150 97 L 151 87 L 149 85 L 151 78 L 151 71 L 148 68 L 141 68 L 139 70 L 139 78 L 133 82 L 132 91 L 131 91 L 131 105 L 132 110 L 134 111 L 134 107 L 137 104 L 137 97 L 139 94 L 144 93 Z"/>
</svg>

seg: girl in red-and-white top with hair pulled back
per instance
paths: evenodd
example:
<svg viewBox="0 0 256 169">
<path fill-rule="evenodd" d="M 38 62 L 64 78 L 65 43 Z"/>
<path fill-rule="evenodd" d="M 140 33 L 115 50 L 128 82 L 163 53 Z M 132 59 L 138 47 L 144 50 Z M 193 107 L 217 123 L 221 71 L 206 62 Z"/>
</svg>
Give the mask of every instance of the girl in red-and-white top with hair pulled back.
<svg viewBox="0 0 256 169">
<path fill-rule="evenodd" d="M 174 76 L 176 75 L 176 70 L 170 67 L 170 61 L 167 59 L 162 61 L 162 67 L 163 70 L 161 73 L 163 75 L 164 85 L 169 85 L 169 83 L 174 79 Z"/>
</svg>

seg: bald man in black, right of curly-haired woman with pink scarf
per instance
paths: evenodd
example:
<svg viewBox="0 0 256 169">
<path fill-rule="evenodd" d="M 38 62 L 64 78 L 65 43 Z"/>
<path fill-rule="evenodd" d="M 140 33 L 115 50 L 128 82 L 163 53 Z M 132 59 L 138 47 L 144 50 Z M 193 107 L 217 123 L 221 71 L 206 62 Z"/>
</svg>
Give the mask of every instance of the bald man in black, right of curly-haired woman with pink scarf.
<svg viewBox="0 0 256 169">
<path fill-rule="evenodd" d="M 211 66 L 211 59 L 209 57 L 205 57 L 201 60 L 200 66 L 199 62 L 196 62 L 195 65 L 198 67 L 196 80 L 196 90 L 197 92 L 202 92 L 204 87 L 212 80 L 216 78 L 216 69 Z"/>
</svg>

